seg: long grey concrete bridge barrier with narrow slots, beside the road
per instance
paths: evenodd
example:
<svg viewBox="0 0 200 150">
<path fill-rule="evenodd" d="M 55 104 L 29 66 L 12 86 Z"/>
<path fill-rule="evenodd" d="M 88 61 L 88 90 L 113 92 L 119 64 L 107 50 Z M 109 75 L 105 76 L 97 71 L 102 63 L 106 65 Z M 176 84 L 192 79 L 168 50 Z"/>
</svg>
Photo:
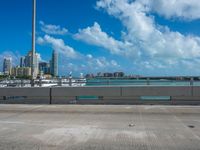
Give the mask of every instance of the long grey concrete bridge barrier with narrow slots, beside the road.
<svg viewBox="0 0 200 150">
<path fill-rule="evenodd" d="M 200 104 L 200 86 L 0 88 L 0 103 Z"/>
</svg>

